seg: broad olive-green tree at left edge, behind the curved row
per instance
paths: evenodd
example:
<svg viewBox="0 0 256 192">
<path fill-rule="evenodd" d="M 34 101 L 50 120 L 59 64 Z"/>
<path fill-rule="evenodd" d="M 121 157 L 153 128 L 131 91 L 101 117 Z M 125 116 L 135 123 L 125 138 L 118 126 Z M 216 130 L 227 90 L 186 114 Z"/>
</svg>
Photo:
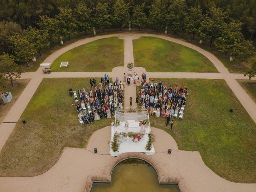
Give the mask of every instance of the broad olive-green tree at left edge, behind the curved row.
<svg viewBox="0 0 256 192">
<path fill-rule="evenodd" d="M 10 52 L 8 38 L 15 33 L 22 34 L 21 27 L 13 22 L 0 22 L 0 54 Z"/>
</svg>

